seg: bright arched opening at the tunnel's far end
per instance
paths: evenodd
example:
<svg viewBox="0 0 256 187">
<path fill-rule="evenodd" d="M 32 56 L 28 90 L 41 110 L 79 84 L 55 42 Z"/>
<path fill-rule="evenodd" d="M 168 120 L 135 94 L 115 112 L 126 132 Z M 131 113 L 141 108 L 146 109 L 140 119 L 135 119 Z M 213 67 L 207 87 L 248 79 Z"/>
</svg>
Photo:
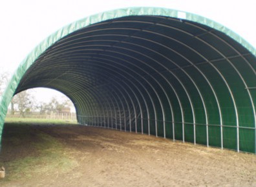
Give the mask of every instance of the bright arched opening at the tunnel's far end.
<svg viewBox="0 0 256 187">
<path fill-rule="evenodd" d="M 76 124 L 76 108 L 57 90 L 32 88 L 14 95 L 5 122 L 38 124 Z"/>
</svg>

